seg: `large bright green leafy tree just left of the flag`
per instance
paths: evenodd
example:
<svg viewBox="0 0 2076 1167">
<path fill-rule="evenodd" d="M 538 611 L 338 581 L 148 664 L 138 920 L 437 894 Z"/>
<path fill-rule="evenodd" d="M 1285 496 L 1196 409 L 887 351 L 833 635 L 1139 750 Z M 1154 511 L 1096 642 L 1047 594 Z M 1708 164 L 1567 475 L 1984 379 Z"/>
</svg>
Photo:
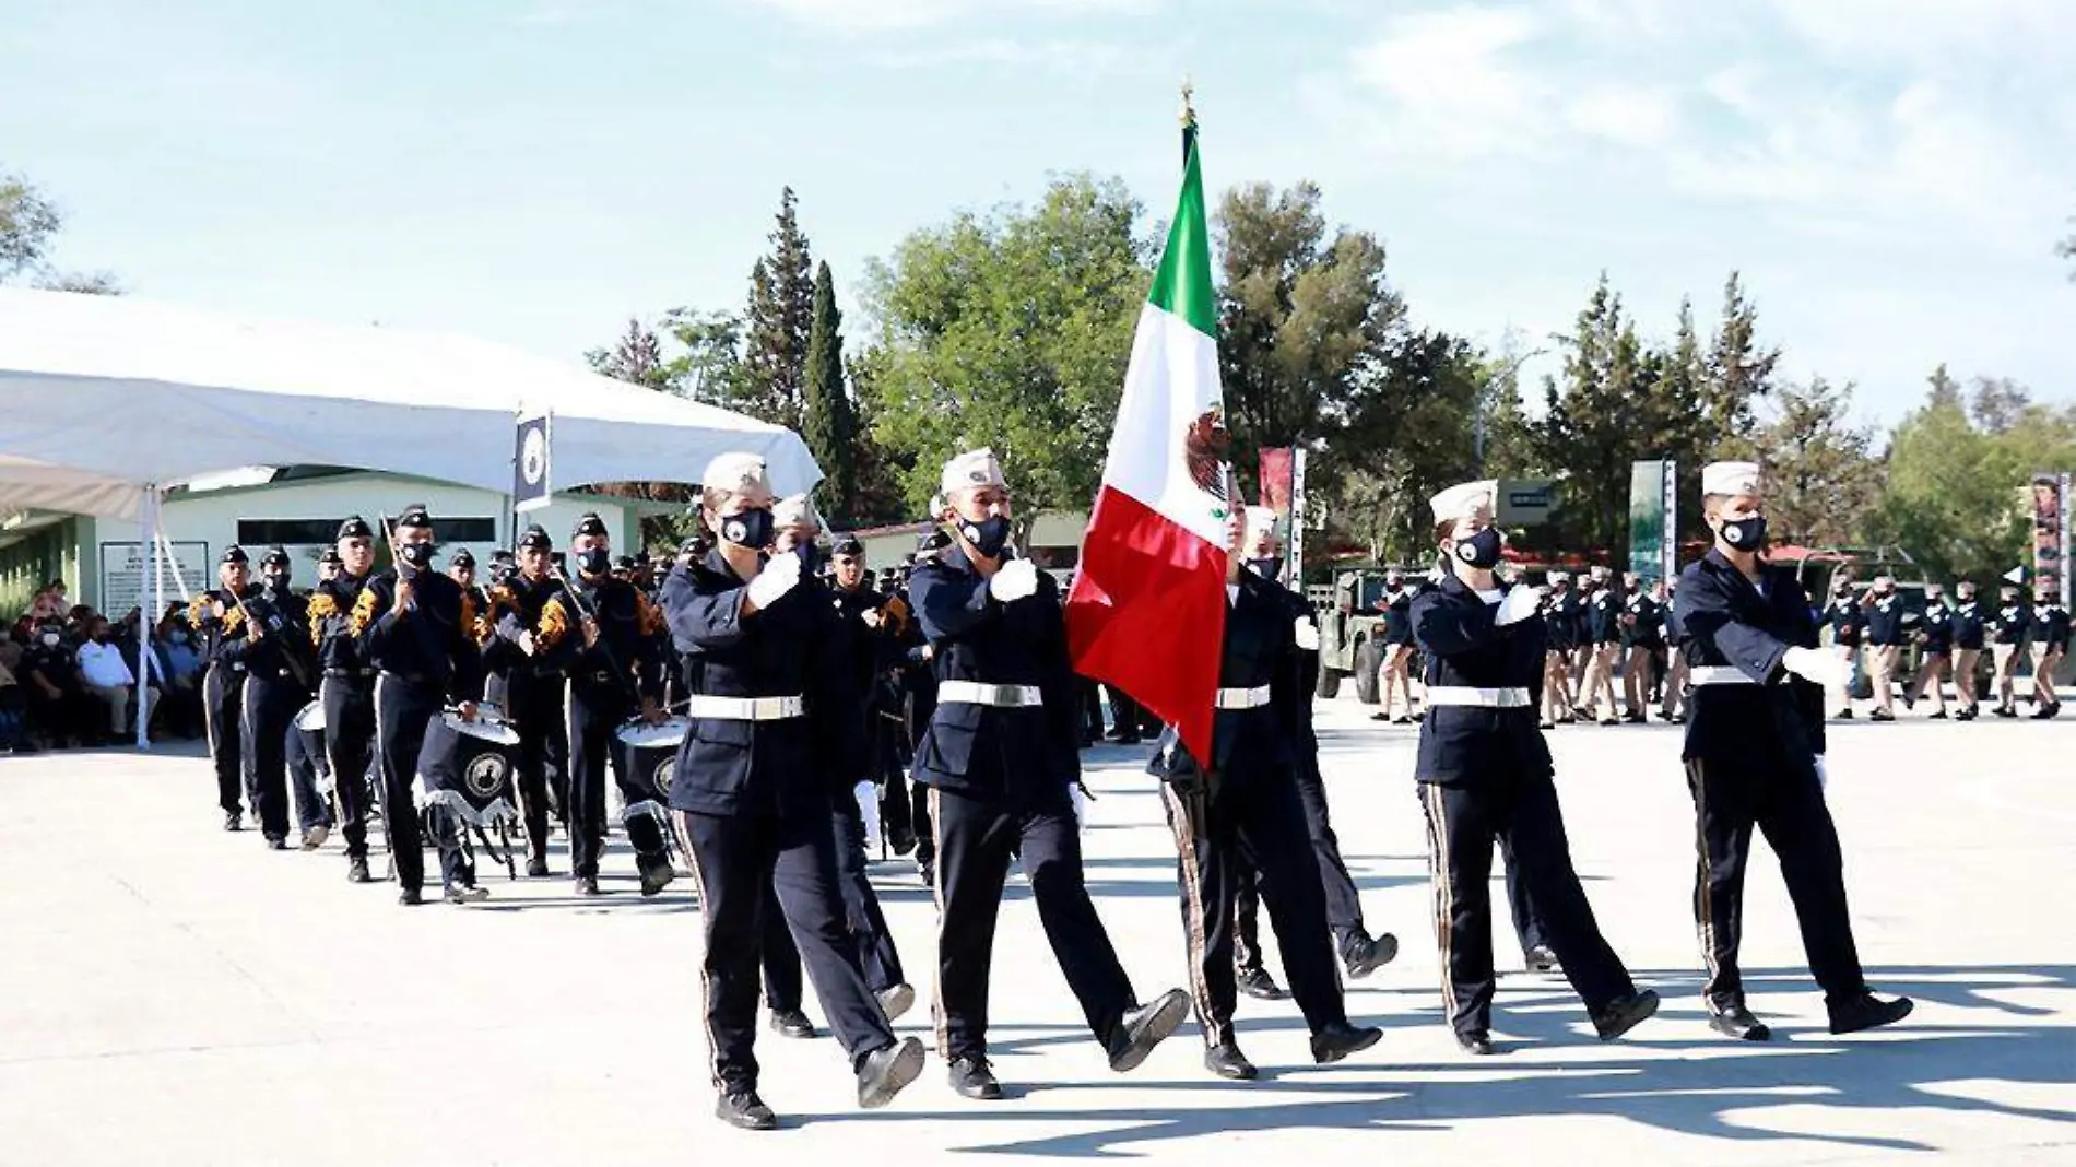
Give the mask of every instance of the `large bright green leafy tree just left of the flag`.
<svg viewBox="0 0 2076 1167">
<path fill-rule="evenodd" d="M 870 266 L 857 384 L 913 511 L 972 446 L 1003 459 L 1023 519 L 1090 505 L 1152 280 L 1138 222 L 1123 183 L 1080 174 Z"/>
</svg>

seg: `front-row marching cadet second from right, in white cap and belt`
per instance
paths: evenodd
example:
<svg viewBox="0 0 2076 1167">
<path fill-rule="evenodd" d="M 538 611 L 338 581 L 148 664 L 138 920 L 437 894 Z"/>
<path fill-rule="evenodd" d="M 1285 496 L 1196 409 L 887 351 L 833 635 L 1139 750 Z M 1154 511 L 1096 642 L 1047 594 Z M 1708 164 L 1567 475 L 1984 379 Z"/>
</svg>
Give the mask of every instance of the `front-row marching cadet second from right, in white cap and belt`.
<svg viewBox="0 0 2076 1167">
<path fill-rule="evenodd" d="M 1428 718 L 1414 777 L 1428 822 L 1443 1007 L 1457 1044 L 1493 1053 L 1493 843 L 1507 847 L 1534 920 L 1601 1040 L 1659 1009 L 1601 937 L 1563 835 L 1551 754 L 1536 727 L 1545 629 L 1540 596 L 1503 586 L 1495 482 L 1451 486 L 1430 500 L 1441 586 L 1414 600 L 1426 652 Z"/>
</svg>

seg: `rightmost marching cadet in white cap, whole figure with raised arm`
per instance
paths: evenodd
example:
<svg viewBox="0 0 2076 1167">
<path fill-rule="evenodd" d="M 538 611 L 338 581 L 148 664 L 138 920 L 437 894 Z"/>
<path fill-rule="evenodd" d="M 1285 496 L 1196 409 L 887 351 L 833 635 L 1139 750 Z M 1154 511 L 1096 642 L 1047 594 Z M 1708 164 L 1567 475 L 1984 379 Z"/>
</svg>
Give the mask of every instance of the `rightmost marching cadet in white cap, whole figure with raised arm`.
<svg viewBox="0 0 2076 1167">
<path fill-rule="evenodd" d="M 1742 1040 L 1773 1036 L 1746 1009 L 1738 970 L 1754 826 L 1781 860 L 1831 1032 L 1900 1022 L 1910 1001 L 1879 1001 L 1860 972 L 1843 858 L 1823 797 L 1825 685 L 1839 681 L 1846 660 L 1816 648 L 1794 573 L 1758 559 L 1767 546 L 1758 465 L 1702 467 L 1702 517 L 1715 546 L 1679 579 L 1679 617 L 1692 635 L 1694 710 L 1682 756 L 1698 820 L 1694 920 L 1709 966 L 1709 1024 Z"/>
</svg>

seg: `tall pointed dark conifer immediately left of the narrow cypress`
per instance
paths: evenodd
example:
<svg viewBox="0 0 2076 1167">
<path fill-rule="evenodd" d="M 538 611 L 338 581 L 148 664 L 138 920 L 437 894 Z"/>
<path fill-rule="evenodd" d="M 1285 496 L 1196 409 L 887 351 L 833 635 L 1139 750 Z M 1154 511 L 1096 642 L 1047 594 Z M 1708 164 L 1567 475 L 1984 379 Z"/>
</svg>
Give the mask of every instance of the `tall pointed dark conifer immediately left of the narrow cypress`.
<svg viewBox="0 0 2076 1167">
<path fill-rule="evenodd" d="M 799 230 L 793 187 L 778 195 L 770 253 L 749 270 L 747 347 L 735 409 L 799 430 L 805 413 L 808 334 L 814 326 L 814 255 Z"/>
</svg>

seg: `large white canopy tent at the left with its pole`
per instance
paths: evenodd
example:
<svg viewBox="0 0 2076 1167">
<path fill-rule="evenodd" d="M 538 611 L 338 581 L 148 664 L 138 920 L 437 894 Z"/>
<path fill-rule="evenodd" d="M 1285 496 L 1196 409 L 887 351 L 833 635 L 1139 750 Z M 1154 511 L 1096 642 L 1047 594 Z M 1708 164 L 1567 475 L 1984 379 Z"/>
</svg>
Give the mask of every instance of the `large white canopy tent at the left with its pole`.
<svg viewBox="0 0 2076 1167">
<path fill-rule="evenodd" d="M 486 341 L 0 289 L 0 513 L 137 519 L 141 542 L 164 548 L 164 490 L 233 467 L 340 465 L 507 492 L 521 413 L 552 417 L 558 488 L 693 484 L 727 451 L 762 455 L 781 492 L 822 478 L 783 426 Z M 137 735 L 143 745 L 141 716 Z"/>
</svg>

